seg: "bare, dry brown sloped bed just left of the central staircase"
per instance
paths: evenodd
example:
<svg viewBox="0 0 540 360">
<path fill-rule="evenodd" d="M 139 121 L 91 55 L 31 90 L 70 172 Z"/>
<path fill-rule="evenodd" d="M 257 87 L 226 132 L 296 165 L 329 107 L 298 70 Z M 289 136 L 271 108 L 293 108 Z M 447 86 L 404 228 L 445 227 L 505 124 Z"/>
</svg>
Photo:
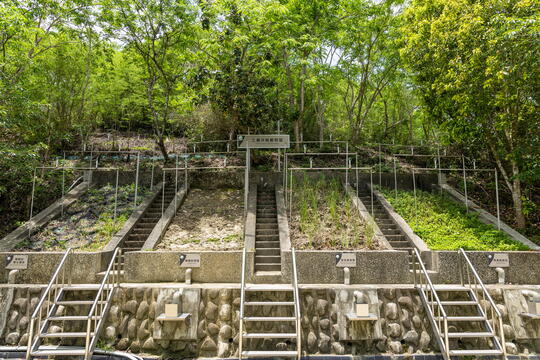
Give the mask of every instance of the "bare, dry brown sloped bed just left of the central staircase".
<svg viewBox="0 0 540 360">
<path fill-rule="evenodd" d="M 244 192 L 191 189 L 157 250 L 238 250 L 244 246 Z"/>
</svg>

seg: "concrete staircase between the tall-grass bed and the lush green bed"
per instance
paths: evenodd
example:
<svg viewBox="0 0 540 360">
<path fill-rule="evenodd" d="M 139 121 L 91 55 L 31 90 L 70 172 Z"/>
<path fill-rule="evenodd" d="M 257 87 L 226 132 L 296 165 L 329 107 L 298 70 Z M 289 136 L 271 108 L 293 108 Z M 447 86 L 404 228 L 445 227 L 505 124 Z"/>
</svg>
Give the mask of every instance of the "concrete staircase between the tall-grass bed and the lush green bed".
<svg viewBox="0 0 540 360">
<path fill-rule="evenodd" d="M 407 237 L 402 233 L 401 229 L 392 220 L 384 206 L 373 196 L 373 210 L 371 208 L 371 192 L 364 188 L 358 191 L 358 197 L 364 203 L 370 214 L 373 214 L 373 219 L 381 229 L 392 248 L 395 250 L 404 250 L 409 253 L 409 265 L 412 269 L 412 251 L 414 245 L 410 243 Z"/>
</svg>

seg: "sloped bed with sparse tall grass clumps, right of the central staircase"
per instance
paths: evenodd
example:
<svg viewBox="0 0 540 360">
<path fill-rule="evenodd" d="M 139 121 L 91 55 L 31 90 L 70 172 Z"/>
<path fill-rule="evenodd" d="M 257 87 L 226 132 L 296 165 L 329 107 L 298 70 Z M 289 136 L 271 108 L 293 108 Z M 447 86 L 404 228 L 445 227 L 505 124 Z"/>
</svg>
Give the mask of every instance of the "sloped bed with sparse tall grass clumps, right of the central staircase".
<svg viewBox="0 0 540 360">
<path fill-rule="evenodd" d="M 381 249 L 374 231 L 338 179 L 307 176 L 293 184 L 290 236 L 293 246 L 305 250 Z"/>
</svg>

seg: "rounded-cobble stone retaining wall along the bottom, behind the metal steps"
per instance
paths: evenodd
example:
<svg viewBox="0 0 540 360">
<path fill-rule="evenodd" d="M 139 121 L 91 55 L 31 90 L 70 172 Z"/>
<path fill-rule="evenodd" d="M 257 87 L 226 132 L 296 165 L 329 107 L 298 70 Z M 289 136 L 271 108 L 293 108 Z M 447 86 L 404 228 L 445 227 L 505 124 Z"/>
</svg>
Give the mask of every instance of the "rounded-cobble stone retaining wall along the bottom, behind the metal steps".
<svg viewBox="0 0 540 360">
<path fill-rule="evenodd" d="M 3 294 L 3 290 L 0 294 Z M 30 315 L 39 301 L 42 287 L 16 287 L 13 299 L 0 309 L 7 314 L 0 328 L 1 342 L 5 345 L 26 345 Z M 362 322 L 352 325 L 345 315 L 351 311 L 355 291 L 368 294 L 374 300 L 373 312 L 379 320 L 373 324 Z M 505 290 L 490 292 L 504 317 L 506 347 L 509 354 L 531 354 L 540 351 L 539 326 L 522 326 L 515 329 L 505 305 Z M 277 300 L 283 294 L 266 293 L 259 299 Z M 515 294 L 514 294 L 515 295 Z M 452 293 L 441 294 L 442 300 L 452 299 Z M 433 331 L 426 317 L 418 293 L 406 288 L 301 288 L 302 347 L 307 354 L 425 354 L 438 352 Z M 168 299 L 168 300 L 167 300 Z M 162 325 L 157 316 L 164 302 L 180 299 L 183 312 L 191 313 L 187 325 Z M 1 302 L 0 302 L 1 303 Z M 515 305 L 515 304 L 514 304 Z M 515 310 L 515 309 L 514 309 Z M 63 314 L 83 314 L 75 307 L 59 309 Z M 134 353 L 182 357 L 237 357 L 240 290 L 238 287 L 184 287 L 155 285 L 128 286 L 118 289 L 101 334 L 99 346 Z M 372 310 L 370 310 L 372 311 Z M 291 316 L 279 312 L 278 307 L 258 308 L 259 316 Z M 514 324 L 514 325 L 513 325 Z M 1 326 L 2 324 L 0 324 Z M 84 327 L 84 324 L 81 326 Z M 168 326 L 168 328 L 167 328 Z M 280 325 L 256 323 L 248 330 L 280 331 Z M 275 328 L 274 328 L 275 327 Z M 55 329 L 60 331 L 61 329 Z M 71 328 L 70 331 L 77 329 Z M 78 329 L 84 331 L 84 329 Z M 467 330 L 464 325 L 450 331 Z M 519 335 L 519 336 L 518 336 Z M 534 338 L 536 337 L 536 339 Z M 275 346 L 277 349 L 294 349 L 292 344 L 272 340 L 245 342 L 246 348 Z M 475 340 L 463 339 L 465 346 Z"/>
</svg>

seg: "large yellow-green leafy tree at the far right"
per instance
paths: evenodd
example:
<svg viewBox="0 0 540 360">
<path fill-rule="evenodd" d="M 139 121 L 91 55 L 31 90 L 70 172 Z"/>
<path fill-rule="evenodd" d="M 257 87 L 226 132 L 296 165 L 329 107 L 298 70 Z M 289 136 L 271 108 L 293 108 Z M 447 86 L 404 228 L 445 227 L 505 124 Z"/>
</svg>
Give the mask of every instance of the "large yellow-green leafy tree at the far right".
<svg viewBox="0 0 540 360">
<path fill-rule="evenodd" d="M 403 27 L 403 58 L 429 116 L 449 141 L 487 148 L 519 228 L 526 225 L 523 169 L 539 152 L 539 16 L 529 0 L 416 0 Z"/>
</svg>

